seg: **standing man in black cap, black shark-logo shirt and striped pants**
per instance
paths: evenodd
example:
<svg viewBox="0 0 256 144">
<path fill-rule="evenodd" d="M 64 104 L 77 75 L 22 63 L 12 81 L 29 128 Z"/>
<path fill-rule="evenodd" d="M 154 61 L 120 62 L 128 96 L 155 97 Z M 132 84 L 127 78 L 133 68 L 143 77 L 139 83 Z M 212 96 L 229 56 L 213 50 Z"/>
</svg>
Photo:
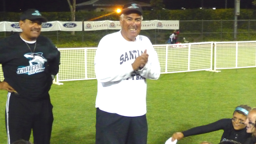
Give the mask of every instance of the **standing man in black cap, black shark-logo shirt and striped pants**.
<svg viewBox="0 0 256 144">
<path fill-rule="evenodd" d="M 59 71 L 60 52 L 48 38 L 40 36 L 42 22 L 47 20 L 39 11 L 28 9 L 20 16 L 22 32 L 0 40 L 4 72 L 0 89 L 8 91 L 8 144 L 28 141 L 31 130 L 35 144 L 50 144 L 53 115 L 48 92 Z"/>
</svg>

